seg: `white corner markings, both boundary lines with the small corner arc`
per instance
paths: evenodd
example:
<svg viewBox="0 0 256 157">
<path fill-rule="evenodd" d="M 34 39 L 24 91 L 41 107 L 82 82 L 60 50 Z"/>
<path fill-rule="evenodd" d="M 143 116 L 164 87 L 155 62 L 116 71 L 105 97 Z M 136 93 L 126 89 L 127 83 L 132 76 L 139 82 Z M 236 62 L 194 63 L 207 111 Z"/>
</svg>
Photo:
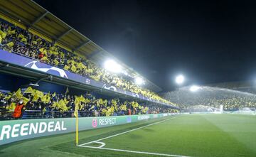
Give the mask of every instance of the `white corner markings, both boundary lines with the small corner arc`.
<svg viewBox="0 0 256 157">
<path fill-rule="evenodd" d="M 171 118 L 169 118 L 169 119 L 174 119 L 174 118 L 176 118 L 176 117 L 171 117 Z M 162 122 L 167 121 L 167 120 L 169 120 L 169 119 L 164 119 L 164 120 L 162 120 L 162 121 L 157 121 L 157 122 L 155 122 L 155 123 L 148 124 L 148 125 L 146 125 L 146 126 L 141 126 L 141 127 L 139 127 L 139 128 L 132 129 L 132 130 L 129 130 L 129 131 L 124 131 L 124 132 L 119 133 L 119 134 L 114 134 L 114 135 L 112 135 L 112 136 L 107 136 L 107 137 L 105 137 L 105 138 L 98 139 L 98 140 L 96 140 L 96 141 L 90 141 L 90 142 L 87 142 L 87 143 L 85 143 L 85 144 L 80 144 L 80 145 L 78 145 L 78 146 L 80 146 L 80 147 L 85 147 L 85 148 L 105 149 L 105 150 L 110 150 L 110 151 L 123 151 L 123 152 L 129 152 L 129 153 L 142 153 L 142 154 L 149 154 L 149 155 L 155 155 L 155 156 L 191 157 L 191 156 L 180 156 L 180 155 L 166 154 L 166 153 L 151 153 L 151 152 L 146 152 L 146 151 L 129 151 L 129 150 L 124 150 L 124 149 L 116 149 L 116 148 L 103 148 L 106 144 L 105 144 L 104 142 L 100 142 L 100 141 L 102 141 L 102 140 L 104 140 L 104 139 L 110 139 L 110 138 L 112 138 L 112 137 L 114 137 L 114 136 L 119 136 L 119 135 L 122 135 L 122 134 L 127 134 L 127 133 L 129 133 L 129 132 L 131 132 L 131 131 L 135 131 L 135 130 L 138 130 L 138 129 L 142 129 L 142 128 L 144 128 L 144 127 L 151 126 L 151 125 L 154 125 L 154 124 L 159 124 L 159 123 L 162 123 Z M 87 144 L 92 144 L 92 143 L 102 144 L 102 145 L 101 145 L 101 146 L 98 146 L 98 147 L 96 147 L 96 146 L 85 146 L 85 145 L 87 145 Z"/>
</svg>

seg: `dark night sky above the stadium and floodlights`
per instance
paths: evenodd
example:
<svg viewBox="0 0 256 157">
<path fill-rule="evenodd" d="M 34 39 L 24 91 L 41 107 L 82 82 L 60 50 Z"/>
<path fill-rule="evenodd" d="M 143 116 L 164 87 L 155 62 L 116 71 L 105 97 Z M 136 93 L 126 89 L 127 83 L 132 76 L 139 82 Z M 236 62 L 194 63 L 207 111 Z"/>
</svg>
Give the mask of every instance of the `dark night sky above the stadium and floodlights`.
<svg viewBox="0 0 256 157">
<path fill-rule="evenodd" d="M 253 1 L 36 2 L 165 91 L 256 77 Z"/>
</svg>

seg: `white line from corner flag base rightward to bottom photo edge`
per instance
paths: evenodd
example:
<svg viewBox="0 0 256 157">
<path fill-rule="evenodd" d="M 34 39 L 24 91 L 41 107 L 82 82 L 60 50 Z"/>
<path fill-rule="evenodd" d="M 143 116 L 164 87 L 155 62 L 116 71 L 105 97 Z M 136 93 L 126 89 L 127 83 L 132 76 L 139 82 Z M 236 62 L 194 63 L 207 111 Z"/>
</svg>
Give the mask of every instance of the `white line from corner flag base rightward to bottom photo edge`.
<svg viewBox="0 0 256 157">
<path fill-rule="evenodd" d="M 146 152 L 146 151 L 129 151 L 129 150 L 123 150 L 123 149 L 102 148 L 102 147 L 94 147 L 94 146 L 81 146 L 81 147 L 97 148 L 97 149 L 110 150 L 110 151 L 122 151 L 122 152 L 129 152 L 129 153 L 142 153 L 142 154 L 148 154 L 148 155 L 154 155 L 154 156 L 191 157 L 191 156 L 180 156 L 180 155 L 167 154 L 167 153 L 151 153 L 151 152 Z"/>
</svg>

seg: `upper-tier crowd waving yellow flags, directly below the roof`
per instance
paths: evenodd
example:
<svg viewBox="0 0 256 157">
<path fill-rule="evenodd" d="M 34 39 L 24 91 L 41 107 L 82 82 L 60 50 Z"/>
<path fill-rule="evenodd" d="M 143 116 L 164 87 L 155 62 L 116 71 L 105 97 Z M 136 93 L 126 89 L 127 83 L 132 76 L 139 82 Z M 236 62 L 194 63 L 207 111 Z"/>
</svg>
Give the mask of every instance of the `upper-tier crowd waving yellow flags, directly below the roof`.
<svg viewBox="0 0 256 157">
<path fill-rule="evenodd" d="M 166 104 L 171 103 L 158 94 L 139 87 L 132 82 L 132 79 L 124 79 L 122 75 L 110 73 L 100 67 L 100 65 L 96 65 L 90 60 L 87 60 L 85 57 L 70 53 L 50 43 L 48 40 L 44 40 L 11 23 L 0 21 L 0 48 L 11 53 L 19 53 L 40 60 L 43 63 L 48 63 L 79 75 L 85 75 L 94 80 L 105 82 L 108 85 L 120 87 L 123 90 L 142 94 L 144 97 L 156 99 Z"/>
</svg>

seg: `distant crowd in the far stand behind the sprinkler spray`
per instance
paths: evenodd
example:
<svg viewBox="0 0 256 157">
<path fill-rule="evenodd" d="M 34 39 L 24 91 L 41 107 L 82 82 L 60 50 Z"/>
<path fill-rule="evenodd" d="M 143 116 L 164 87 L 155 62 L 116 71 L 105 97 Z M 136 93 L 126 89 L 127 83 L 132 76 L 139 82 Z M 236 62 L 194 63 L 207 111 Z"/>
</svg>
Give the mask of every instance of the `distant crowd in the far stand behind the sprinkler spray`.
<svg viewBox="0 0 256 157">
<path fill-rule="evenodd" d="M 171 99 L 181 109 L 198 105 L 216 109 L 223 105 L 225 111 L 235 111 L 245 107 L 256 108 L 256 94 L 218 87 L 200 87 L 196 92 L 191 92 L 189 89 L 189 87 L 182 87 L 179 90 L 166 93 L 164 97 Z"/>
</svg>

